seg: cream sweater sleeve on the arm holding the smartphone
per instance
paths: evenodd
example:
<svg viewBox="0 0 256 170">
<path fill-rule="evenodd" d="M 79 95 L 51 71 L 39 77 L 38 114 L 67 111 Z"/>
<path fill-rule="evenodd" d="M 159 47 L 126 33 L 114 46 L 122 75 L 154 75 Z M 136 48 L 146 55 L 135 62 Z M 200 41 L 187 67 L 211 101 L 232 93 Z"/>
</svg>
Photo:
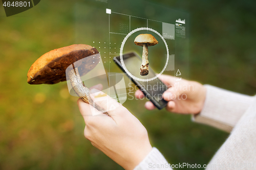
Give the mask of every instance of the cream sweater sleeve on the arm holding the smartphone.
<svg viewBox="0 0 256 170">
<path fill-rule="evenodd" d="M 201 113 L 193 116 L 193 120 L 230 132 L 254 98 L 211 85 L 204 86 L 207 89 L 204 107 Z"/>
</svg>

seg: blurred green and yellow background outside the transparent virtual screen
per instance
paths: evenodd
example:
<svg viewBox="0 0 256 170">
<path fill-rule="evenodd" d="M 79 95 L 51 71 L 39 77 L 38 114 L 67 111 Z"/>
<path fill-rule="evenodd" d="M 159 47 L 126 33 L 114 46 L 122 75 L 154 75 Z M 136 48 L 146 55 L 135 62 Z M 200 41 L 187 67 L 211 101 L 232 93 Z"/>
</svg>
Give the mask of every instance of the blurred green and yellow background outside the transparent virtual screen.
<svg viewBox="0 0 256 170">
<path fill-rule="evenodd" d="M 77 98 L 65 82 L 27 83 L 38 57 L 74 43 L 75 2 L 45 0 L 10 17 L 0 7 L 0 169 L 122 169 L 84 138 Z M 255 94 L 255 1 L 150 2 L 190 14 L 191 80 Z M 145 102 L 124 106 L 170 163 L 207 164 L 228 137 L 190 115 L 146 111 Z"/>
</svg>

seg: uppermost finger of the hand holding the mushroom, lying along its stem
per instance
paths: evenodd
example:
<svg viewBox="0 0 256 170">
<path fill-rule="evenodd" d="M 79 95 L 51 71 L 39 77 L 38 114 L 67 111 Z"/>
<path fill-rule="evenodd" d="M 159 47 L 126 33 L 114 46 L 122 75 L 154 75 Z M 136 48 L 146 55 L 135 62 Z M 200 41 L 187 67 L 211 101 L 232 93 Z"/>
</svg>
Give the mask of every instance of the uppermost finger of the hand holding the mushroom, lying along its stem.
<svg viewBox="0 0 256 170">
<path fill-rule="evenodd" d="M 122 113 L 122 105 L 118 103 L 116 100 L 112 99 L 109 95 L 105 94 L 102 91 L 99 91 L 97 89 L 92 89 L 90 91 L 90 96 L 92 100 L 102 109 L 107 111 L 111 116 L 117 115 L 118 113 Z M 116 109 L 120 109 L 115 111 Z"/>
</svg>

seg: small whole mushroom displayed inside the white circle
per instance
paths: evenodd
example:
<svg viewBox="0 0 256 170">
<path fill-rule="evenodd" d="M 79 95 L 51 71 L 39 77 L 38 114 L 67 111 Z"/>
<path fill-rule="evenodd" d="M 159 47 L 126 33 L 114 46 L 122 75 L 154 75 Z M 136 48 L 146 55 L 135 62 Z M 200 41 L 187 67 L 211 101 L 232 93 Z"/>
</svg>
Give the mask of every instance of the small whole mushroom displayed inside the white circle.
<svg viewBox="0 0 256 170">
<path fill-rule="evenodd" d="M 139 46 L 143 46 L 143 53 L 142 53 L 142 64 L 140 66 L 140 75 L 146 76 L 148 75 L 148 46 L 153 46 L 158 44 L 157 39 L 151 34 L 140 34 L 138 35 L 134 43 Z"/>
</svg>

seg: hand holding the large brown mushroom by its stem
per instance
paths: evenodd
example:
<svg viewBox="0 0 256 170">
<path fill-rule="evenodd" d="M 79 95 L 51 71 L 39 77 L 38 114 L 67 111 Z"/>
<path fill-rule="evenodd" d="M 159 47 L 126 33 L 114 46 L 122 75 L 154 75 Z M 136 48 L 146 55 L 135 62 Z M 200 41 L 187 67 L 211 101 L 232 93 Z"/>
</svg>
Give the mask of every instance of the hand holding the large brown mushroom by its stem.
<svg viewBox="0 0 256 170">
<path fill-rule="evenodd" d="M 115 109 L 108 111 L 110 117 L 79 99 L 77 104 L 86 123 L 84 136 L 124 169 L 134 169 L 152 150 L 146 129 L 129 110 L 110 96 L 96 89 L 92 89 L 90 95 L 101 108 Z M 103 96 L 100 101 L 97 100 L 99 95 Z M 92 116 L 91 109 L 99 114 Z"/>
</svg>

